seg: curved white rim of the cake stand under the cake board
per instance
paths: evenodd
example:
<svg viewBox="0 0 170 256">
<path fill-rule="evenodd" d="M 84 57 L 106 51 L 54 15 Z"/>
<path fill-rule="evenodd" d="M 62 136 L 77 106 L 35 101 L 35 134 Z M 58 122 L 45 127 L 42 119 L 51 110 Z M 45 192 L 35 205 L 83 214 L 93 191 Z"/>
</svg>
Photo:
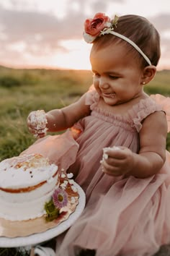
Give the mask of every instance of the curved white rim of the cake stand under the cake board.
<svg viewBox="0 0 170 256">
<path fill-rule="evenodd" d="M 78 189 L 79 192 L 79 204 L 76 207 L 76 210 L 71 213 L 71 215 L 68 217 L 66 221 L 61 222 L 58 226 L 48 229 L 47 231 L 44 231 L 42 233 L 38 234 L 32 234 L 30 236 L 24 236 L 24 237 L 0 237 L 0 247 L 32 247 L 35 244 L 40 244 L 42 242 L 48 241 L 50 239 L 53 239 L 53 237 L 58 236 L 59 234 L 62 234 L 64 231 L 66 231 L 68 228 L 73 225 L 73 223 L 81 216 L 81 213 L 84 210 L 86 197 L 84 194 L 83 189 L 74 182 L 75 187 Z"/>
</svg>

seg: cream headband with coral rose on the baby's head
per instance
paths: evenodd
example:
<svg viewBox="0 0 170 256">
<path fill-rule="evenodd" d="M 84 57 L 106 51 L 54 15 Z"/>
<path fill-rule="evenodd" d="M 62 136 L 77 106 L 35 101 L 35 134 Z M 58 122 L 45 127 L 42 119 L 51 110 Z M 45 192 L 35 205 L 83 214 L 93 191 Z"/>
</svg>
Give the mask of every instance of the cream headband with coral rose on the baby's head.
<svg viewBox="0 0 170 256">
<path fill-rule="evenodd" d="M 117 26 L 118 17 L 115 15 L 114 20 L 110 20 L 108 16 L 106 16 L 102 12 L 98 12 L 93 19 L 87 19 L 84 22 L 84 40 L 86 43 L 93 43 L 94 40 L 105 34 L 112 34 L 117 36 L 118 38 L 121 38 L 122 40 L 127 41 L 130 43 L 131 46 L 133 46 L 142 56 L 143 58 L 148 62 L 149 65 L 151 65 L 150 59 L 146 56 L 146 54 L 143 53 L 143 51 L 129 38 L 127 38 L 125 35 L 121 35 L 120 33 L 117 33 L 114 30 L 114 26 Z"/>
</svg>

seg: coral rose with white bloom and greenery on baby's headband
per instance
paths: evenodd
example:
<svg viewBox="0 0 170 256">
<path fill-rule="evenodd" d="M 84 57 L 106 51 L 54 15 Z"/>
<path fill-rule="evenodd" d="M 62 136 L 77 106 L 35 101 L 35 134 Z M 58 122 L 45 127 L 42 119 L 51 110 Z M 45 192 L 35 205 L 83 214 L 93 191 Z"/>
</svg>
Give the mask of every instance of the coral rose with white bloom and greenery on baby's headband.
<svg viewBox="0 0 170 256">
<path fill-rule="evenodd" d="M 104 35 L 112 31 L 113 26 L 117 25 L 118 17 L 115 16 L 113 22 L 102 12 L 98 12 L 93 19 L 87 19 L 84 22 L 84 40 L 86 43 L 92 43 L 99 35 Z"/>
</svg>

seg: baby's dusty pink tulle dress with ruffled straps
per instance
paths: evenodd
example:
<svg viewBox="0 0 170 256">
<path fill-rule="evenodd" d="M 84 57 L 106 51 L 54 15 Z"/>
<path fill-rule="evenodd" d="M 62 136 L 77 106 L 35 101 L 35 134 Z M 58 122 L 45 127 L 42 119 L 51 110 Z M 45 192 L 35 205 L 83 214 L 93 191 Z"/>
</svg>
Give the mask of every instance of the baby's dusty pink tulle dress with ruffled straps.
<svg viewBox="0 0 170 256">
<path fill-rule="evenodd" d="M 170 242 L 170 154 L 158 174 L 147 179 L 113 177 L 101 170 L 102 148 L 125 146 L 139 150 L 138 132 L 149 114 L 161 111 L 152 98 L 141 100 L 124 115 L 99 108 L 95 90 L 86 93 L 91 115 L 71 131 L 43 138 L 26 153 L 39 152 L 75 175 L 86 193 L 86 208 L 71 226 L 57 256 L 78 255 L 80 248 L 96 249 L 96 256 L 151 256 Z"/>
</svg>

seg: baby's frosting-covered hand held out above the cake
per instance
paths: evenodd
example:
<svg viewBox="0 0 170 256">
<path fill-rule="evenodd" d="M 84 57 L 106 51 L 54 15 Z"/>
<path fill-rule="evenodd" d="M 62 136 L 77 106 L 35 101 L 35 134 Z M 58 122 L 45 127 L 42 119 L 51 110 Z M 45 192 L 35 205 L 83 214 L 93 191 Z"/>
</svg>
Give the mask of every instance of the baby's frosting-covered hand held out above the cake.
<svg viewBox="0 0 170 256">
<path fill-rule="evenodd" d="M 47 123 L 43 110 L 32 111 L 27 117 L 27 127 L 35 137 L 44 137 L 47 134 Z"/>
</svg>

